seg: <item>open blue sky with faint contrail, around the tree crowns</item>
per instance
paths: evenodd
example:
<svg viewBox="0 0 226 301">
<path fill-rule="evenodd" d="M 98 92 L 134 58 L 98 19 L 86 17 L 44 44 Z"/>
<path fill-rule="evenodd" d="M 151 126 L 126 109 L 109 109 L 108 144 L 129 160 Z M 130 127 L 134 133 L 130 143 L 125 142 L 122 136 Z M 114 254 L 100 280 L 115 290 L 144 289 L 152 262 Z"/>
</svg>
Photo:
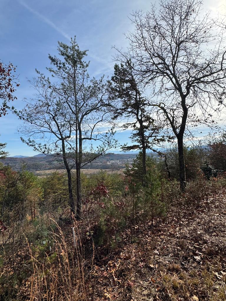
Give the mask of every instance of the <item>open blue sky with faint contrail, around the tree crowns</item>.
<svg viewBox="0 0 226 301">
<path fill-rule="evenodd" d="M 222 8 L 225 0 L 205 0 L 205 8 L 213 13 Z M 111 76 L 114 66 L 112 45 L 126 47 L 124 33 L 132 29 L 127 16 L 133 10 L 146 11 L 150 0 L 1 0 L 0 59 L 17 65 L 20 87 L 17 88 L 17 109 L 24 107 L 33 89 L 27 79 L 36 75 L 35 68 L 46 72 L 48 54 L 57 54 L 57 41 L 69 42 L 76 36 L 81 49 L 89 49 L 92 76 Z M 214 5 L 214 6 L 213 6 Z M 20 122 L 9 113 L 0 118 L 0 141 L 7 142 L 11 156 L 36 154 L 20 141 L 17 132 Z M 117 133 L 127 142 L 130 133 Z"/>
</svg>

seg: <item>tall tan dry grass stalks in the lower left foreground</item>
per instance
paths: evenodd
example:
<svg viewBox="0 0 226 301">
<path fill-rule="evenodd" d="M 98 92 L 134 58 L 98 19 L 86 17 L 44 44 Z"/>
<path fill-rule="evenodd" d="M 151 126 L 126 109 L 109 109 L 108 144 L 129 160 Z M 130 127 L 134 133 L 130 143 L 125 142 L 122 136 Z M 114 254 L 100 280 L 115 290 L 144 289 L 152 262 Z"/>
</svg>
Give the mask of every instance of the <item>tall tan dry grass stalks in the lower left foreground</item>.
<svg viewBox="0 0 226 301">
<path fill-rule="evenodd" d="M 84 259 L 78 227 L 75 233 L 76 245 L 72 247 L 72 242 L 66 240 L 61 228 L 56 225 L 53 250 L 51 255 L 46 253 L 42 261 L 27 241 L 33 267 L 25 285 L 27 300 L 88 300 L 88 262 Z"/>
</svg>

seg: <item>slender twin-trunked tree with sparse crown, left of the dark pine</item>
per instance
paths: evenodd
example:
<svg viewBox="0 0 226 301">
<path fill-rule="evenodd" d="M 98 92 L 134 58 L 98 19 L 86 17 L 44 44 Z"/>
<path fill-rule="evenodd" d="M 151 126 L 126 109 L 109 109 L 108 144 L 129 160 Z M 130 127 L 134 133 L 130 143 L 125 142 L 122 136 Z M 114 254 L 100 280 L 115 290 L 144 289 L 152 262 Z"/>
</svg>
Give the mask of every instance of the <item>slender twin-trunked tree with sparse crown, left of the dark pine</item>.
<svg viewBox="0 0 226 301">
<path fill-rule="evenodd" d="M 24 120 L 21 132 L 28 140 L 22 138 L 22 141 L 43 154 L 63 157 L 71 213 L 80 219 L 81 168 L 113 147 L 116 140 L 113 129 L 106 129 L 110 120 L 110 111 L 105 106 L 108 84 L 103 77 L 89 79 L 89 63 L 83 61 L 87 51 L 81 51 L 75 39 L 71 39 L 71 45 L 59 42 L 58 51 L 62 59 L 49 55 L 52 67 L 47 70 L 52 73 L 53 80 L 37 71 L 39 76 L 33 82 L 36 99 L 15 113 Z M 39 143 L 37 139 L 46 143 Z M 95 151 L 90 144 L 92 141 L 98 141 Z M 74 166 L 76 208 L 71 175 Z"/>
</svg>

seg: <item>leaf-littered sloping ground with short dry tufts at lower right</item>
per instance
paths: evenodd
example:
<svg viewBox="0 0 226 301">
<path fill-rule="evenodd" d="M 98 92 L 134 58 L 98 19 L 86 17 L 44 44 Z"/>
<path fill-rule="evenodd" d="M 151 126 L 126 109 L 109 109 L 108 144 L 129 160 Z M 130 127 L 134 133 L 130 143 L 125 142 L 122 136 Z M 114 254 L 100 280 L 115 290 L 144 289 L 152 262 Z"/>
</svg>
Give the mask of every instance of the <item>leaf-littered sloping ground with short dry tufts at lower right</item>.
<svg viewBox="0 0 226 301">
<path fill-rule="evenodd" d="M 226 300 L 225 188 L 122 236 L 92 271 L 93 300 Z"/>
</svg>

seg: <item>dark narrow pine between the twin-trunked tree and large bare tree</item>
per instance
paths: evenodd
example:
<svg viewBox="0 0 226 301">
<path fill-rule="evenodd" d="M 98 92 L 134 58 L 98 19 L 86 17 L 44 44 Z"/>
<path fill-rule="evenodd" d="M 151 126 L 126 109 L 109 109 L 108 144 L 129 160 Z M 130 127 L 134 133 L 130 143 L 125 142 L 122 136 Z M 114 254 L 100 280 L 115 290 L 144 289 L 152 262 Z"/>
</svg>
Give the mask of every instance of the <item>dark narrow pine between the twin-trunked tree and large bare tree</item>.
<svg viewBox="0 0 226 301">
<path fill-rule="evenodd" d="M 125 117 L 128 122 L 123 125 L 124 129 L 132 128 L 132 145 L 124 145 L 123 151 L 141 150 L 143 168 L 143 186 L 146 175 L 146 150 L 152 149 L 160 141 L 162 126 L 157 125 L 151 118 L 148 110 L 147 99 L 143 96 L 144 87 L 136 76 L 130 60 L 126 63 L 115 64 L 114 76 L 111 77 L 111 92 L 115 98 L 114 119 Z M 132 121 L 130 121 L 132 120 Z"/>
</svg>

